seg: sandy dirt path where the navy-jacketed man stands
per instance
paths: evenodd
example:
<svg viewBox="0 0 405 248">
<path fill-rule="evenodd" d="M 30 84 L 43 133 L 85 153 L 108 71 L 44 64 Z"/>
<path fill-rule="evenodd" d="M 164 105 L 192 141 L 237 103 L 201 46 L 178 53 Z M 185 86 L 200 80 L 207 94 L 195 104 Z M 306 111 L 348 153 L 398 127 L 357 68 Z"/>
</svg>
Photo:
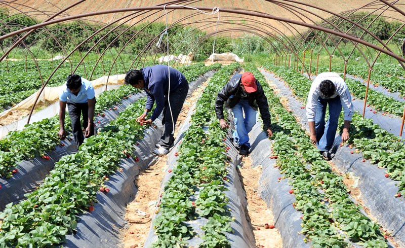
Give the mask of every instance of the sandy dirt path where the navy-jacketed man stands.
<svg viewBox="0 0 405 248">
<path fill-rule="evenodd" d="M 191 106 L 203 92 L 209 81 L 194 91 L 191 97 L 186 99 L 183 109 L 176 123 L 175 137 L 179 127 L 183 125 Z M 156 200 L 160 190 L 160 184 L 167 169 L 167 156 L 161 156 L 159 160 L 145 171 L 136 180 L 138 193 L 135 200 L 127 205 L 125 219 L 130 224 L 128 230 L 124 230 L 124 244 L 126 248 L 143 247 L 151 225 L 151 218 L 155 209 Z"/>
</svg>

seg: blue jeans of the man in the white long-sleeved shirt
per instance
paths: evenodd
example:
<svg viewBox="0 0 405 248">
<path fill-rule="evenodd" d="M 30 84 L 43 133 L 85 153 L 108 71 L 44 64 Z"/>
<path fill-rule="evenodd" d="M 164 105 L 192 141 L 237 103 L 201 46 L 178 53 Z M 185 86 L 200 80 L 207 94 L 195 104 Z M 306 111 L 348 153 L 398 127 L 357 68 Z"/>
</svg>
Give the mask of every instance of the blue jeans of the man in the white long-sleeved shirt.
<svg viewBox="0 0 405 248">
<path fill-rule="evenodd" d="M 329 119 L 325 125 L 326 107 L 329 104 Z M 316 141 L 319 151 L 329 151 L 335 140 L 336 130 L 338 129 L 338 120 L 342 111 L 340 96 L 335 98 L 318 99 L 315 113 Z"/>
</svg>

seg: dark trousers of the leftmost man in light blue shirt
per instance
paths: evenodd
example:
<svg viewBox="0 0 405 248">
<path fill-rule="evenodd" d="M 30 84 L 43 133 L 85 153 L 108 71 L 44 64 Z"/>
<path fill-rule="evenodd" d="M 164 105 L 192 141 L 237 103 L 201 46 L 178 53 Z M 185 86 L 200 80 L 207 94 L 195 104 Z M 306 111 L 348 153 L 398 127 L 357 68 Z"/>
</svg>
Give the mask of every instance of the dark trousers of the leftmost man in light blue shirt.
<svg viewBox="0 0 405 248">
<path fill-rule="evenodd" d="M 76 103 L 67 101 L 67 109 L 69 110 L 70 120 L 72 121 L 72 132 L 77 149 L 83 144 L 85 136 L 83 135 L 82 127 L 80 126 L 80 116 L 83 114 L 83 128 L 86 129 L 89 123 L 89 104 Z M 90 136 L 94 135 L 94 126 L 91 127 Z"/>
</svg>

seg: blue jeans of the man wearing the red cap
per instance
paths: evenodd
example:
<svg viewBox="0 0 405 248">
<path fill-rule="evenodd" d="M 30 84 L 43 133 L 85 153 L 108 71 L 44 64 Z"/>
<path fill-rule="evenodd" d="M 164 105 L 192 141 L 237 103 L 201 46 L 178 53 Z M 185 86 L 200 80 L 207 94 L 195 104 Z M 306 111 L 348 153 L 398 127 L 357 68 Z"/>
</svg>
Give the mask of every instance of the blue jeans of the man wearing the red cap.
<svg viewBox="0 0 405 248">
<path fill-rule="evenodd" d="M 233 138 L 239 146 L 246 145 L 250 148 L 248 133 L 252 131 L 253 126 L 256 124 L 256 110 L 249 105 L 248 99 L 240 99 L 235 107 L 232 108 L 232 112 L 235 123 Z"/>
</svg>

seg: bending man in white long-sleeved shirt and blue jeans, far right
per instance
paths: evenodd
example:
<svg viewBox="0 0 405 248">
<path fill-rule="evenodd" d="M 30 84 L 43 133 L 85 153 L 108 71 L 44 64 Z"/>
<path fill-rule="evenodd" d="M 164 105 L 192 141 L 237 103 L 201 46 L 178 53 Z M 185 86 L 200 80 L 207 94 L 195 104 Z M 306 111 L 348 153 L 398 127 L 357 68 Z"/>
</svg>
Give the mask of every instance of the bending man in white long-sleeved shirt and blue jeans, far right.
<svg viewBox="0 0 405 248">
<path fill-rule="evenodd" d="M 329 119 L 325 123 L 326 108 L 329 104 Z M 342 142 L 349 139 L 349 128 L 353 116 L 353 104 L 349 89 L 345 81 L 336 73 L 321 73 L 312 82 L 308 94 L 307 118 L 311 132 L 312 144 L 316 144 L 320 153 L 327 159 L 331 159 L 333 142 L 340 112 L 344 110 L 344 127 Z M 326 125 L 325 125 L 326 124 Z"/>
</svg>

